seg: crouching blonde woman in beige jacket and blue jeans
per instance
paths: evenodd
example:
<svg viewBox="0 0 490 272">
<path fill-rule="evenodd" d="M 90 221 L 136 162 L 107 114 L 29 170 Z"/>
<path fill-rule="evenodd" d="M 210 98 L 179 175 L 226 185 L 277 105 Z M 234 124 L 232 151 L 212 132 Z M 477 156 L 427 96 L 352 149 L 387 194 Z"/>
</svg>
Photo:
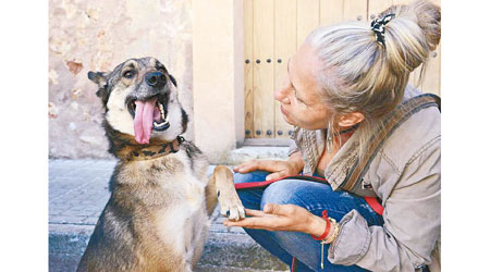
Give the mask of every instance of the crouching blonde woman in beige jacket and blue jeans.
<svg viewBox="0 0 490 272">
<path fill-rule="evenodd" d="M 293 178 L 240 190 L 248 217 L 224 224 L 245 227 L 298 271 L 436 270 L 440 111 L 417 109 L 383 141 L 371 140 L 390 124 L 388 116 L 420 95 L 407 81 L 438 46 L 440 16 L 439 7 L 417 1 L 391 7 L 371 24 L 315 29 L 274 92 L 285 121 L 296 126 L 289 159 L 234 170 L 236 183 L 303 173 L 328 184 Z M 367 152 L 366 166 L 356 170 Z M 342 190 L 355 171 L 362 188 Z M 362 197 L 369 194 L 381 214 Z"/>
</svg>

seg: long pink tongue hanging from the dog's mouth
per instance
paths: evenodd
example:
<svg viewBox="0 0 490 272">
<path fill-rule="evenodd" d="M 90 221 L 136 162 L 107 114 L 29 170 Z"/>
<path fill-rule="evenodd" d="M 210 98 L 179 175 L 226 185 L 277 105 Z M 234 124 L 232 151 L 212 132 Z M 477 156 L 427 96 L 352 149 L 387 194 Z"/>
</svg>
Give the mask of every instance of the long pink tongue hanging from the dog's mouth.
<svg viewBox="0 0 490 272">
<path fill-rule="evenodd" d="M 154 111 L 157 98 L 146 101 L 136 100 L 136 112 L 134 116 L 134 136 L 139 144 L 149 144 L 151 128 L 154 127 Z"/>
</svg>

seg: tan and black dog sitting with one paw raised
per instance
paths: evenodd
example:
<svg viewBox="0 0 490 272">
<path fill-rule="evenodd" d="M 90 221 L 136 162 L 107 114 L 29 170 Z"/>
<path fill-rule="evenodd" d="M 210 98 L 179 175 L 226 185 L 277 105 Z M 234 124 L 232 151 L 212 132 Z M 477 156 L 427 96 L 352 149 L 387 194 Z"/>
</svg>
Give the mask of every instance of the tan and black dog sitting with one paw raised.
<svg viewBox="0 0 490 272">
<path fill-rule="evenodd" d="M 206 157 L 181 136 L 188 119 L 177 83 L 157 59 L 130 59 L 88 78 L 118 163 L 77 271 L 193 271 L 217 202 L 230 220 L 245 218 L 232 172 L 218 165 L 207 178 Z"/>
</svg>

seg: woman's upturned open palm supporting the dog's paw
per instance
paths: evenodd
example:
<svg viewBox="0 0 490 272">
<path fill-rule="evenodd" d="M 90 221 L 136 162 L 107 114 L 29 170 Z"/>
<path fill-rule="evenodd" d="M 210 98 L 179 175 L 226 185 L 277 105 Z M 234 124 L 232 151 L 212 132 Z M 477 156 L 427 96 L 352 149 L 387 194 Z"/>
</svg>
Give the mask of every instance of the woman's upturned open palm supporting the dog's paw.
<svg viewBox="0 0 490 272">
<path fill-rule="evenodd" d="M 224 220 L 223 225 L 302 232 L 320 236 L 327 224 L 323 219 L 296 205 L 268 203 L 264 207 L 264 211 L 245 209 L 245 213 L 250 217 L 236 222 Z"/>
</svg>

